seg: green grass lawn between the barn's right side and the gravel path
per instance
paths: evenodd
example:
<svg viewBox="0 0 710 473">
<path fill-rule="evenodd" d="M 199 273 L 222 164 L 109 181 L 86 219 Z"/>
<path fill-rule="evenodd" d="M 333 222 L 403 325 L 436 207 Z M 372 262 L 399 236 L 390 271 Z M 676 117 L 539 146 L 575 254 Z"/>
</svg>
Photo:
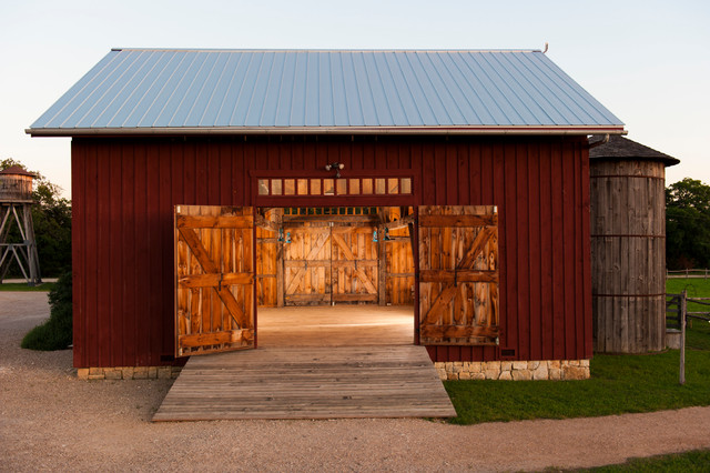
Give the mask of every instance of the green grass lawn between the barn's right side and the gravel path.
<svg viewBox="0 0 710 473">
<path fill-rule="evenodd" d="M 669 280 L 668 292 L 683 288 L 690 296 L 710 296 L 710 280 Z M 591 379 L 584 381 L 446 381 L 444 385 L 458 413 L 449 422 L 566 419 L 710 405 L 708 322 L 692 322 L 687 346 L 682 386 L 678 383 L 678 350 L 648 355 L 595 355 Z"/>
</svg>

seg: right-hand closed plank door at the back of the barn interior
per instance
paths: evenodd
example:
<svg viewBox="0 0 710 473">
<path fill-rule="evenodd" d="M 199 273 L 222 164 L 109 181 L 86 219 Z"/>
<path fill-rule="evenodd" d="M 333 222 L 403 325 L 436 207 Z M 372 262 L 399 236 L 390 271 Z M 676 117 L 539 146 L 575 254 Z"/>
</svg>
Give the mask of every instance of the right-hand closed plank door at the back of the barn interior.
<svg viewBox="0 0 710 473">
<path fill-rule="evenodd" d="M 333 302 L 378 301 L 374 227 L 333 227 Z"/>
</svg>

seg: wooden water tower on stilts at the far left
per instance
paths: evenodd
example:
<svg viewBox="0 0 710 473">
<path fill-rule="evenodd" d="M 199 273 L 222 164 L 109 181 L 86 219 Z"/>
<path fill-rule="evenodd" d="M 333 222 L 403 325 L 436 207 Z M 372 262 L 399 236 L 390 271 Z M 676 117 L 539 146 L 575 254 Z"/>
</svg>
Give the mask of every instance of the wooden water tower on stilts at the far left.
<svg viewBox="0 0 710 473">
<path fill-rule="evenodd" d="M 19 165 L 0 171 L 0 283 L 17 262 L 29 285 L 40 284 L 40 261 L 32 225 L 32 180 Z M 17 224 L 21 242 L 10 238 Z M 10 240 L 16 240 L 11 243 Z"/>
</svg>

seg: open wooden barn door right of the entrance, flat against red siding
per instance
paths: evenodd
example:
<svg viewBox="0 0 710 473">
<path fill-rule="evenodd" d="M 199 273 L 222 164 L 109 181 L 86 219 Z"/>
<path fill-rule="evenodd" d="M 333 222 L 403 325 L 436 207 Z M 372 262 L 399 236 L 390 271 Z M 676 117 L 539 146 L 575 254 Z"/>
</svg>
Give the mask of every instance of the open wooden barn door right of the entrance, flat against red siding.
<svg viewBox="0 0 710 473">
<path fill-rule="evenodd" d="M 497 344 L 496 207 L 419 207 L 418 225 L 422 344 Z"/>
</svg>

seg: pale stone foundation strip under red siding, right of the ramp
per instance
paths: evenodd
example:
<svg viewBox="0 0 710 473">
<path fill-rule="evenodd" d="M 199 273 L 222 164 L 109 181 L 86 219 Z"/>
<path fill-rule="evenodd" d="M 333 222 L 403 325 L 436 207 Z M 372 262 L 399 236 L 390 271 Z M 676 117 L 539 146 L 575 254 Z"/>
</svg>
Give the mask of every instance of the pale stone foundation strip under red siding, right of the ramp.
<svg viewBox="0 0 710 473">
<path fill-rule="evenodd" d="M 589 360 L 453 361 L 434 363 L 445 380 L 587 380 Z"/>
</svg>

